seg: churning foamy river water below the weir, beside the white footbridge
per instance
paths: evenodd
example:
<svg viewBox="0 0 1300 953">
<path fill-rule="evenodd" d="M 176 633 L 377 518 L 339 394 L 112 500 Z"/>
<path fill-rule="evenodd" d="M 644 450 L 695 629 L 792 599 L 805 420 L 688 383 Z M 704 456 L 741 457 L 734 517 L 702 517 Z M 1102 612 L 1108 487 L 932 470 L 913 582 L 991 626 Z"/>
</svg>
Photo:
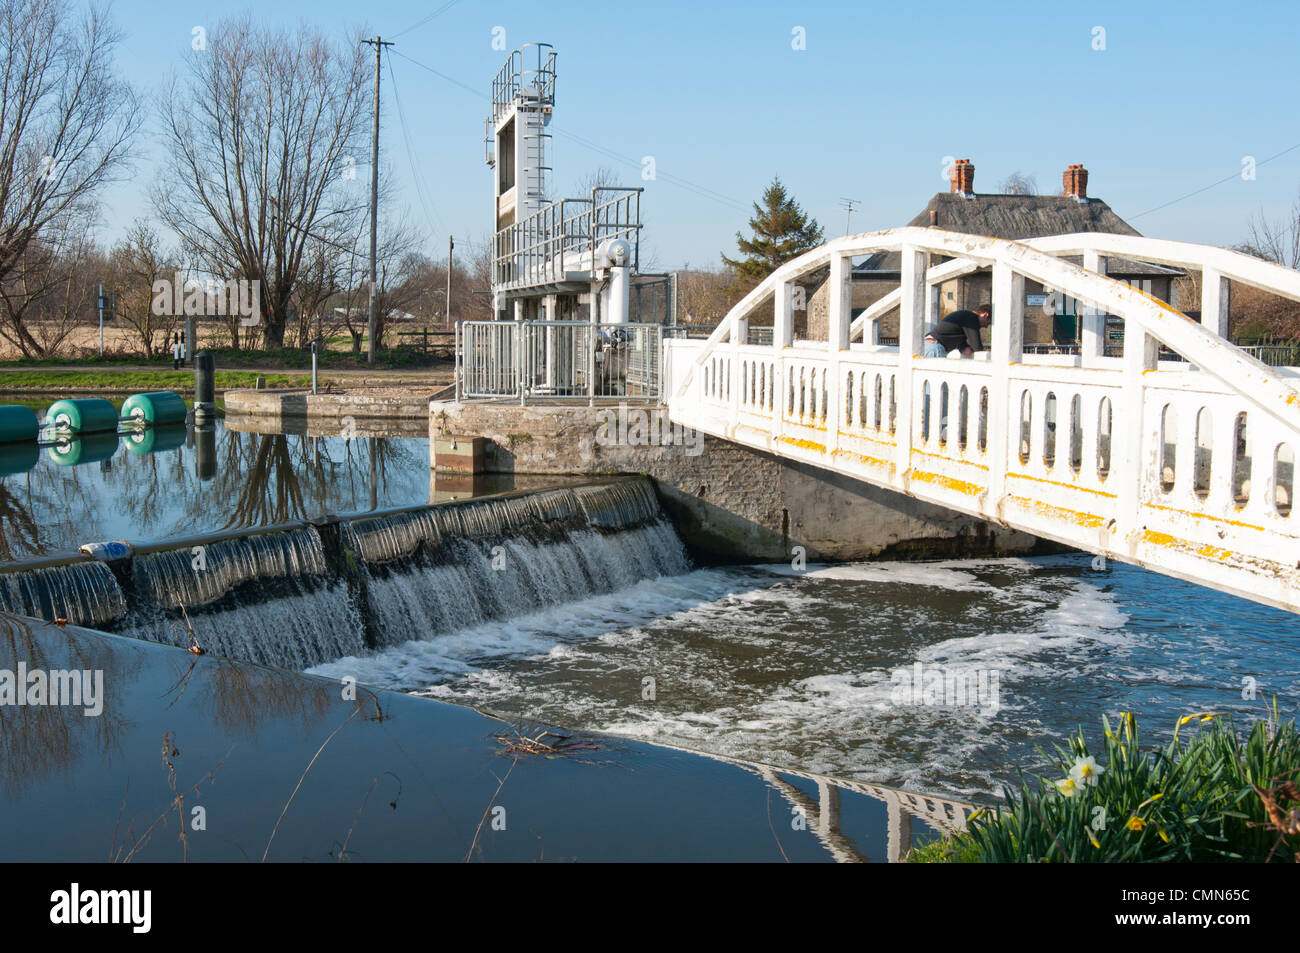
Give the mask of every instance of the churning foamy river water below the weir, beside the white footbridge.
<svg viewBox="0 0 1300 953">
<path fill-rule="evenodd" d="M 918 663 L 983 673 L 985 688 L 996 673 L 996 697 L 910 698 L 900 685 Z M 1273 696 L 1295 715 L 1300 627 L 1083 555 L 706 568 L 312 671 L 987 800 L 1044 770 L 1041 750 L 1076 727 L 1096 741 L 1102 715 L 1135 712 L 1145 741 L 1167 740 L 1190 711 L 1261 715 Z"/>
</svg>

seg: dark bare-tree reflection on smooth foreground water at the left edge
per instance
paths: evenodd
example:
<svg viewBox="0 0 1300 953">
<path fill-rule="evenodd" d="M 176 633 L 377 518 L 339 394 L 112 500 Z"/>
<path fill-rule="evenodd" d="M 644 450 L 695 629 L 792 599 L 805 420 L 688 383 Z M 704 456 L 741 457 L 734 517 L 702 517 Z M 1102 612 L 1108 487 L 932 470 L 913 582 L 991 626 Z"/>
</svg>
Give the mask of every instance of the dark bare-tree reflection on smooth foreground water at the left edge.
<svg viewBox="0 0 1300 953">
<path fill-rule="evenodd" d="M 38 633 L 32 627 L 39 627 Z M 65 640 L 61 645 L 55 640 Z M 90 670 L 104 672 L 104 710 L 96 718 L 83 706 L 0 706 L 0 787 L 10 800 L 55 774 L 70 771 L 91 748 L 107 758 L 120 749 L 125 722 L 117 701 L 126 697 L 129 658 L 108 647 L 101 637 L 60 631 L 46 623 L 0 614 L 0 668 L 27 671 Z M 133 667 L 134 668 L 134 667 Z M 20 686 L 25 690 L 26 686 Z"/>
</svg>

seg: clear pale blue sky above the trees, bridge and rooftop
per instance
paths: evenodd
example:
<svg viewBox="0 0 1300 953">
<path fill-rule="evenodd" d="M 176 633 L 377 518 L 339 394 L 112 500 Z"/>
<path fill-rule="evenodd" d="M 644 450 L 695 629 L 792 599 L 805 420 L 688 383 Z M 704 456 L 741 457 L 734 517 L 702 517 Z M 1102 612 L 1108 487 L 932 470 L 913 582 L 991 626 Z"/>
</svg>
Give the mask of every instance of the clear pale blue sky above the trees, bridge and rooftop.
<svg viewBox="0 0 1300 953">
<path fill-rule="evenodd" d="M 508 48 L 558 51 L 552 198 L 602 165 L 644 185 L 642 261 L 660 269 L 733 252 L 774 174 L 828 237 L 844 231 L 844 196 L 861 200 L 854 231 L 906 222 L 946 191 L 945 156 L 974 161 L 976 191 L 1018 170 L 1056 192 L 1065 166 L 1083 163 L 1089 194 L 1144 234 L 1216 244 L 1243 241 L 1252 215 L 1280 217 L 1300 196 L 1300 147 L 1258 165 L 1253 181 L 1240 176 L 1243 157 L 1300 146 L 1292 3 L 117 0 L 121 69 L 156 92 L 195 26 L 212 31 L 248 9 L 341 42 L 358 30 L 395 39 L 381 153 L 436 257 L 448 231 L 459 243 L 491 228 L 482 121 L 504 61 L 491 48 L 497 26 Z M 1105 49 L 1093 48 L 1098 26 Z M 794 27 L 805 49 L 792 48 Z M 135 172 L 108 196 L 104 242 L 150 213 L 156 129 L 151 109 Z M 642 156 L 654 156 L 655 181 L 642 181 Z"/>
</svg>

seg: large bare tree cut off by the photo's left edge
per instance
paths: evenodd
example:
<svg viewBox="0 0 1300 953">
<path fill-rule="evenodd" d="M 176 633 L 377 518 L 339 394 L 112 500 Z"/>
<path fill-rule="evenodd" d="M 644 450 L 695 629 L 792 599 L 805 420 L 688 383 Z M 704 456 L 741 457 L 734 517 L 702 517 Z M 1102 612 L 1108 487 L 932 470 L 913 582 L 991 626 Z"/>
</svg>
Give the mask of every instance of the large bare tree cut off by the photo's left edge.
<svg viewBox="0 0 1300 953">
<path fill-rule="evenodd" d="M 72 276 L 58 268 L 86 252 L 95 195 L 129 157 L 139 103 L 113 73 L 118 40 L 98 8 L 0 0 L 0 334 L 26 355 L 44 355 L 70 333 L 51 325 L 34 334 L 26 321 L 75 307 Z M 16 298 L 23 294 L 40 302 Z"/>
</svg>

